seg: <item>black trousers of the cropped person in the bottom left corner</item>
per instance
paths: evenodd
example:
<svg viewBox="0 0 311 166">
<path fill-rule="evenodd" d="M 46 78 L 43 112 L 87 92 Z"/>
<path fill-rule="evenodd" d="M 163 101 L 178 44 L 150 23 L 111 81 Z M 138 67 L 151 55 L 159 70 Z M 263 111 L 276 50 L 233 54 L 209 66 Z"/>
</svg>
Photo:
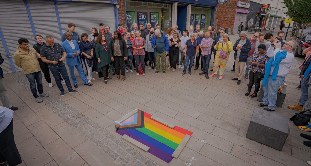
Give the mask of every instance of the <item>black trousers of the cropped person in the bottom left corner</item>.
<svg viewBox="0 0 311 166">
<path fill-rule="evenodd" d="M 14 141 L 13 119 L 9 126 L 0 133 L 0 163 L 5 161 L 12 166 L 22 162 Z"/>
</svg>

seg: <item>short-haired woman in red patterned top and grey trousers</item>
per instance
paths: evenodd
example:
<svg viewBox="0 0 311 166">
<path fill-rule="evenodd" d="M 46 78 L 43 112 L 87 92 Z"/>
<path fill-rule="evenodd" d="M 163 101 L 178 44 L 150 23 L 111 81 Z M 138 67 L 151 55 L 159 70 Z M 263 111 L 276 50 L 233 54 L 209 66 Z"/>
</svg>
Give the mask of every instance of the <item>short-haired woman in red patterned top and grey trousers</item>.
<svg viewBox="0 0 311 166">
<path fill-rule="evenodd" d="M 143 76 L 145 76 L 145 47 L 146 47 L 146 41 L 144 38 L 140 37 L 140 30 L 136 30 L 136 38 L 133 39 L 133 48 L 134 48 L 134 58 L 136 62 L 136 75 L 138 76 L 138 66 L 139 62 L 142 64 L 142 70 L 144 71 L 142 73 Z"/>
</svg>

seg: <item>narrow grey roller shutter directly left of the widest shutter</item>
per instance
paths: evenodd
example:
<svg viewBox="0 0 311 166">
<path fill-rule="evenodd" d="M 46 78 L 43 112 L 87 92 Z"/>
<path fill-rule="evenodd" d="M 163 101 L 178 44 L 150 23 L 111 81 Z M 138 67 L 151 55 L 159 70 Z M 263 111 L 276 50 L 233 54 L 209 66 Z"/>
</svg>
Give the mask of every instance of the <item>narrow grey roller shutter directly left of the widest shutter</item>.
<svg viewBox="0 0 311 166">
<path fill-rule="evenodd" d="M 36 34 L 41 35 L 44 42 L 45 36 L 52 35 L 56 43 L 62 43 L 54 2 L 29 0 L 28 5 Z"/>
</svg>

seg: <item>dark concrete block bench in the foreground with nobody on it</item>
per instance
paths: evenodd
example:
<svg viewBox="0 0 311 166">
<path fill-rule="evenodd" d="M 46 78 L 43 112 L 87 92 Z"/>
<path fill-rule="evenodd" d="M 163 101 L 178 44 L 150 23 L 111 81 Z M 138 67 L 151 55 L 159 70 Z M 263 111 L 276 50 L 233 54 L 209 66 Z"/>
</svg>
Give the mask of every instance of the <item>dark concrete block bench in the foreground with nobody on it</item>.
<svg viewBox="0 0 311 166">
<path fill-rule="evenodd" d="M 255 108 L 246 138 L 281 151 L 288 133 L 288 117 Z"/>
</svg>

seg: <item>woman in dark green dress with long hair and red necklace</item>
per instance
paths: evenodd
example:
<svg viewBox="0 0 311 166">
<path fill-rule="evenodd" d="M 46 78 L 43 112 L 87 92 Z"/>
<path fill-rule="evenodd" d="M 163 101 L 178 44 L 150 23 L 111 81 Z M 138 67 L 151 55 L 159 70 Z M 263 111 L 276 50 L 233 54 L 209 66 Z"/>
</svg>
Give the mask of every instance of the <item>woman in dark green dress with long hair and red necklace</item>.
<svg viewBox="0 0 311 166">
<path fill-rule="evenodd" d="M 96 41 L 96 58 L 98 60 L 97 66 L 101 69 L 104 75 L 105 84 L 107 84 L 107 79 L 111 79 L 108 77 L 109 63 L 111 62 L 109 56 L 109 43 L 105 39 L 104 34 L 99 34 Z"/>
</svg>

